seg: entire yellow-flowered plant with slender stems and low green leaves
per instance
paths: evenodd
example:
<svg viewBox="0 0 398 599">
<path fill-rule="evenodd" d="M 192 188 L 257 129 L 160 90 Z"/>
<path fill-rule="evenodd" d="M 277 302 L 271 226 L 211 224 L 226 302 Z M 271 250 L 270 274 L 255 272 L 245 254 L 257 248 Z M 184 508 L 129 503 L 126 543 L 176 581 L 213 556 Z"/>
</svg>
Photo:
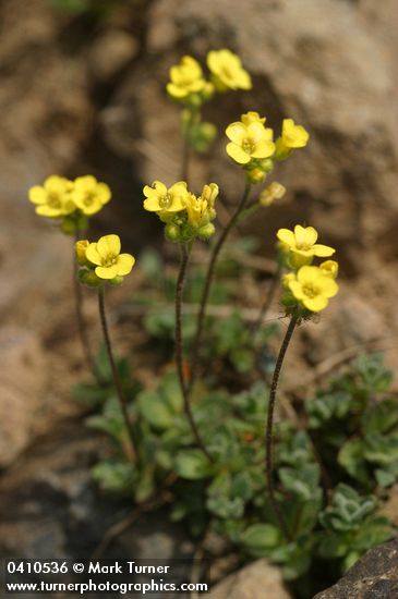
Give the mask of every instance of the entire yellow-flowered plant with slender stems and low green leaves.
<svg viewBox="0 0 398 599">
<path fill-rule="evenodd" d="M 203 119 L 205 105 L 244 94 L 252 80 L 228 49 L 209 51 L 206 65 L 207 73 L 184 56 L 171 66 L 166 90 L 181 107 L 180 180 L 143 188 L 143 209 L 160 220 L 165 243 L 179 256 L 178 268 L 170 268 L 158 252 L 145 249 L 135 266 L 144 282 L 133 307 L 144 310 L 140 322 L 154 354 L 147 388 L 117 357 L 105 303 L 135 258 L 121 252 L 113 232 L 85 239 L 88 219 L 111 198 L 109 187 L 92 175 L 51 175 L 31 188 L 29 199 L 39 216 L 74 236 L 79 329 L 94 378 L 73 394 L 92 407 L 88 426 L 107 433 L 113 448 L 94 467 L 99 488 L 131 498 L 143 511 L 167 503 L 171 519 L 184 521 L 192 535 L 216 535 L 242 559 L 268 558 L 296 582 L 298 596 L 309 597 L 319 564 L 331 582 L 395 534 L 379 511 L 398 480 L 398 407 L 378 355 L 358 357 L 313 399 L 299 388 L 278 401 L 293 333 L 315 326 L 311 321 L 329 302 L 338 302 L 339 267 L 335 249 L 318 243 L 307 223 L 275 230 L 267 291 L 256 309 L 244 305 L 240 281 L 250 272 L 251 284 L 261 285 L 252 265 L 263 258 L 239 225 L 253 215 L 268 218 L 267 208 L 282 200 L 284 185 L 269 182 L 274 168 L 294 160 L 310 135 L 291 118 L 276 135 L 255 110 L 230 123 L 225 150 L 241 173 L 242 191 L 220 219 L 222 182 L 193 190 L 192 158 L 217 135 Z M 84 288 L 98 297 L 104 344 L 97 357 L 83 319 Z M 267 318 L 277 294 L 280 315 Z M 275 355 L 280 323 L 285 334 Z"/>
</svg>

